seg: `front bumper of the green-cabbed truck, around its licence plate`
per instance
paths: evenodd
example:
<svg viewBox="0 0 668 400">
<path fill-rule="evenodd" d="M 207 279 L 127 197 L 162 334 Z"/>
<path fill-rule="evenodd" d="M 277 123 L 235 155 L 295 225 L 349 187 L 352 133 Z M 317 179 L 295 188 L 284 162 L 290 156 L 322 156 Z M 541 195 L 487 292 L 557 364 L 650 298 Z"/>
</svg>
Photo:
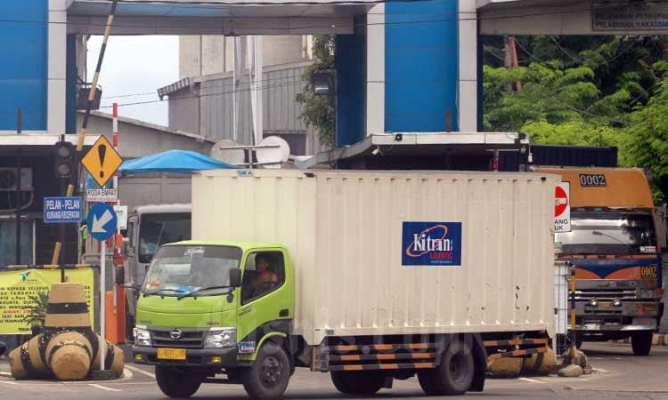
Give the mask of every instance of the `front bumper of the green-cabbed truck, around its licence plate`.
<svg viewBox="0 0 668 400">
<path fill-rule="evenodd" d="M 163 360 L 158 358 L 158 348 L 133 346 L 134 364 L 164 365 L 174 367 L 202 367 L 207 369 L 245 366 L 237 360 L 237 348 L 186 348 L 185 360 Z M 216 357 L 219 357 L 218 360 Z"/>
</svg>

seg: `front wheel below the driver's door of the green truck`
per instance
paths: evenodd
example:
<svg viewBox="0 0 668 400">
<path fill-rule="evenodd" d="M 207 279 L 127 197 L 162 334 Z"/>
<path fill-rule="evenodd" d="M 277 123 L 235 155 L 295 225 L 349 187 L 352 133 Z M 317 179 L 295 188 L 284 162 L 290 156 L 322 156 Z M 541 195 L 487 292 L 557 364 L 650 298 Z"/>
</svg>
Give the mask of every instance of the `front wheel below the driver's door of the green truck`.
<svg viewBox="0 0 668 400">
<path fill-rule="evenodd" d="M 260 348 L 255 363 L 243 373 L 243 388 L 257 400 L 281 398 L 288 387 L 290 362 L 285 350 L 272 342 Z"/>
</svg>

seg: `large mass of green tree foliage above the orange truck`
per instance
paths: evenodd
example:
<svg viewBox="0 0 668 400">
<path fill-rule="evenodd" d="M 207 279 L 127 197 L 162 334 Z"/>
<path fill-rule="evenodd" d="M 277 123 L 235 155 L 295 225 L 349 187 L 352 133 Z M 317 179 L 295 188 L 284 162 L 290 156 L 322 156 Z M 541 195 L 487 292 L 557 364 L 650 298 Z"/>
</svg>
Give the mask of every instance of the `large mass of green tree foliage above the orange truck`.
<svg viewBox="0 0 668 400">
<path fill-rule="evenodd" d="M 517 37 L 520 68 L 503 67 L 500 37 L 485 41 L 486 131 L 547 144 L 615 146 L 621 166 L 653 173 L 668 196 L 668 62 L 657 37 Z M 522 83 L 521 91 L 509 88 Z"/>
</svg>

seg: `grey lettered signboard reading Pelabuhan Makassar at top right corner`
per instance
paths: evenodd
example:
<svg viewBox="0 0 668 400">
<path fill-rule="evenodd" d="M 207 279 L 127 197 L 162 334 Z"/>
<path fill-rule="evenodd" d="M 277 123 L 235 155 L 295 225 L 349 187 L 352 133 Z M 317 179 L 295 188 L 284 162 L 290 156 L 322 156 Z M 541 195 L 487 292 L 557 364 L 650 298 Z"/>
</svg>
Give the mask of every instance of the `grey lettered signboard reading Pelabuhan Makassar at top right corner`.
<svg viewBox="0 0 668 400">
<path fill-rule="evenodd" d="M 668 3 L 610 4 L 591 6 L 593 30 L 665 30 L 668 31 Z"/>
</svg>

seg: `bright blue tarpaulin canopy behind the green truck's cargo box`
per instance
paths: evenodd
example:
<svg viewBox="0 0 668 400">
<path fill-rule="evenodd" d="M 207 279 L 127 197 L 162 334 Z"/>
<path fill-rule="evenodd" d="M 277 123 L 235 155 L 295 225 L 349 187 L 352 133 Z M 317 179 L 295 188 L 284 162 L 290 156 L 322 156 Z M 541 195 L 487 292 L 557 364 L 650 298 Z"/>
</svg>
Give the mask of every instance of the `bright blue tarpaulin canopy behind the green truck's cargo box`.
<svg viewBox="0 0 668 400">
<path fill-rule="evenodd" d="M 162 153 L 135 158 L 123 163 L 118 172 L 120 175 L 130 173 L 171 172 L 191 173 L 203 170 L 220 170 L 237 168 L 235 165 L 224 163 L 194 151 L 169 150 Z"/>
</svg>

